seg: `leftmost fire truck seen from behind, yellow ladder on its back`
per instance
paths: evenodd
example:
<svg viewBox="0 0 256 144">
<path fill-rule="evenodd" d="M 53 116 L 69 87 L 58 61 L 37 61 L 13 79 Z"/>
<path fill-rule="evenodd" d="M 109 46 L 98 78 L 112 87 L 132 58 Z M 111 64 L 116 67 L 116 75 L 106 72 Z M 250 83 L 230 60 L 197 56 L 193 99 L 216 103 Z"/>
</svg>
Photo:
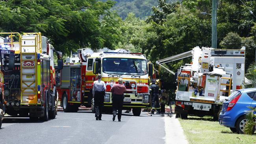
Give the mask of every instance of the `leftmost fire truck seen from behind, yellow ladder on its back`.
<svg viewBox="0 0 256 144">
<path fill-rule="evenodd" d="M 6 113 L 47 121 L 57 114 L 58 92 L 55 83 L 54 48 L 41 33 L 8 36 L 5 42 L 15 51 L 13 68 L 4 63 L 4 99 Z M 62 53 L 57 52 L 58 70 L 62 68 Z M 7 59 L 4 56 L 4 59 Z"/>
</svg>

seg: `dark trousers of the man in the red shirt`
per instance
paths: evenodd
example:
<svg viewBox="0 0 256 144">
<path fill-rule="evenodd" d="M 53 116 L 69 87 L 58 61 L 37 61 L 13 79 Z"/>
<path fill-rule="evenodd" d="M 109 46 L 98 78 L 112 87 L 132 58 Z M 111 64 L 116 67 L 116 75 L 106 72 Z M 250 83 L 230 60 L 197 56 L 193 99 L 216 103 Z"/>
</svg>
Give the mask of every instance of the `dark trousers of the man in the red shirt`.
<svg viewBox="0 0 256 144">
<path fill-rule="evenodd" d="M 124 95 L 119 95 L 119 94 L 113 94 L 112 98 L 112 105 L 113 105 L 113 114 L 117 114 L 118 110 L 118 120 L 121 120 L 122 116 L 122 105 L 124 103 Z"/>
</svg>

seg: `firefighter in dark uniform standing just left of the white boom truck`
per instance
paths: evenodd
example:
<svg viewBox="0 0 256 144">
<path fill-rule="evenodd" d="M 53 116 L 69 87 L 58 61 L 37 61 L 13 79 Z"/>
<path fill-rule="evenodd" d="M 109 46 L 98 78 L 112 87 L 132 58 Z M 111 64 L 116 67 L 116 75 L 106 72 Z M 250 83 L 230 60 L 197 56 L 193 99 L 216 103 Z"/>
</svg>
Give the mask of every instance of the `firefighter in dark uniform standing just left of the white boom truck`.
<svg viewBox="0 0 256 144">
<path fill-rule="evenodd" d="M 156 85 L 156 79 L 152 80 L 152 85 L 150 85 L 149 88 L 149 92 L 151 92 L 151 114 L 154 114 L 155 108 L 158 112 L 158 114 L 160 114 L 160 105 L 159 105 L 159 97 L 158 94 L 161 94 L 161 91 L 158 87 L 158 85 Z"/>
</svg>

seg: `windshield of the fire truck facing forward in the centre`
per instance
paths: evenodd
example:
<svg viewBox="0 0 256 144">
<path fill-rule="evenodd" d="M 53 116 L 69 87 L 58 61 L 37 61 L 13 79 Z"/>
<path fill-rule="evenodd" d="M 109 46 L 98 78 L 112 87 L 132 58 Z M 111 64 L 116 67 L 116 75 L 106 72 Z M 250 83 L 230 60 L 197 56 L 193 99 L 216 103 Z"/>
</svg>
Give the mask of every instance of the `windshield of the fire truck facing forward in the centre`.
<svg viewBox="0 0 256 144">
<path fill-rule="evenodd" d="M 102 71 L 107 74 L 145 75 L 148 73 L 147 61 L 120 57 L 103 58 Z"/>
</svg>

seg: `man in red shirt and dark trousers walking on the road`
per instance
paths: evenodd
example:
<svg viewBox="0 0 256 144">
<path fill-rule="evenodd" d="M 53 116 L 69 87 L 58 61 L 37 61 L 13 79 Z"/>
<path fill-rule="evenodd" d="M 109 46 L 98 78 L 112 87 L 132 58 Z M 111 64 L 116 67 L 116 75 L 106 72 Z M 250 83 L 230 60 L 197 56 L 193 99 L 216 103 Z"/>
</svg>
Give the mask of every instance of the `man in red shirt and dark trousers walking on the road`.
<svg viewBox="0 0 256 144">
<path fill-rule="evenodd" d="M 121 122 L 122 116 L 122 105 L 124 103 L 124 92 L 126 91 L 125 86 L 122 83 L 122 78 L 118 79 L 118 84 L 114 84 L 110 92 L 112 92 L 112 105 L 113 105 L 113 121 L 115 121 L 115 116 L 118 110 L 118 121 Z"/>
</svg>

